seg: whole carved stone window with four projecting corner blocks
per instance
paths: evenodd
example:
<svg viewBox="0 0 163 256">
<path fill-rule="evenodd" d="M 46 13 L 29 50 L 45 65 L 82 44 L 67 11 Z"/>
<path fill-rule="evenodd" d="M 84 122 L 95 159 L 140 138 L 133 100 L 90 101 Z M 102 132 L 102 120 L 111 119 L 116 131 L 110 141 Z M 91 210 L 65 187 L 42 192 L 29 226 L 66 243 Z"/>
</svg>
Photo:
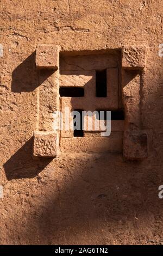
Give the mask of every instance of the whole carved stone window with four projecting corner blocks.
<svg viewBox="0 0 163 256">
<path fill-rule="evenodd" d="M 34 155 L 54 157 L 59 152 L 123 151 L 129 160 L 147 157 L 148 138 L 142 131 L 140 108 L 146 48 L 124 46 L 115 50 L 59 51 L 60 47 L 55 45 L 40 45 L 36 50 L 41 85 L 38 88 Z M 100 115 L 98 119 L 105 123 L 105 113 L 111 111 L 111 134 L 102 137 L 102 130 L 84 126 L 89 123 L 87 115 L 80 119 L 80 131 L 60 131 L 59 127 L 54 131 L 53 113 L 61 111 L 65 120 L 65 107 L 70 112 L 104 111 L 104 117 Z M 73 116 L 69 121 L 73 124 Z M 53 134 L 57 139 L 53 138 L 51 143 Z"/>
</svg>

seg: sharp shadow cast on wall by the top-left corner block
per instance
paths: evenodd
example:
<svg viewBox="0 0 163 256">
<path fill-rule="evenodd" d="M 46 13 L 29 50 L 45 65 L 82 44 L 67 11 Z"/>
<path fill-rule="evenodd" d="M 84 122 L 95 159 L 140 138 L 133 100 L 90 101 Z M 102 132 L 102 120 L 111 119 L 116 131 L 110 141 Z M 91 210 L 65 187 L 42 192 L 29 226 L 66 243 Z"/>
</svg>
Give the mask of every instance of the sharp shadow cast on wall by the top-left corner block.
<svg viewBox="0 0 163 256">
<path fill-rule="evenodd" d="M 41 77 L 39 77 L 39 70 L 36 69 L 35 55 L 33 52 L 12 72 L 11 92 L 33 92 L 40 84 L 42 84 L 49 76 L 53 74 L 53 70 L 41 70 Z"/>
</svg>

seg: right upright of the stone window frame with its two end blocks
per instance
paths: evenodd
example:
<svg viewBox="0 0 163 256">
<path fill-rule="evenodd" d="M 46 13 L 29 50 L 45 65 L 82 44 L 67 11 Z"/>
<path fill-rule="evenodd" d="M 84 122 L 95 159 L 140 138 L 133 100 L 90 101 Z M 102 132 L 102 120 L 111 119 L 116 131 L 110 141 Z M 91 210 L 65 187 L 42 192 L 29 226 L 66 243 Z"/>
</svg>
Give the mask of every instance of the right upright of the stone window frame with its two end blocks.
<svg viewBox="0 0 163 256">
<path fill-rule="evenodd" d="M 128 160 L 148 157 L 148 137 L 142 131 L 141 91 L 146 47 L 122 47 L 122 101 L 125 111 L 123 156 Z"/>
</svg>

